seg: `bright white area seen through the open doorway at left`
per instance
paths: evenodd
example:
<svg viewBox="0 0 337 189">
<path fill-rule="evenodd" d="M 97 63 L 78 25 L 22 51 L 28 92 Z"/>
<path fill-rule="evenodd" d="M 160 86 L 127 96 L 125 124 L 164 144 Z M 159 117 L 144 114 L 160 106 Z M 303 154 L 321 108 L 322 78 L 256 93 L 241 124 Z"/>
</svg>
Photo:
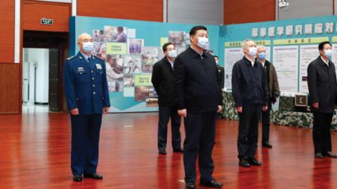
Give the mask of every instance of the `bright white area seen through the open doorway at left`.
<svg viewBox="0 0 337 189">
<path fill-rule="evenodd" d="M 26 48 L 26 49 L 27 49 L 27 62 L 29 62 L 29 104 L 32 104 L 34 102 L 48 103 L 49 50 L 43 48 Z M 34 85 L 35 77 L 36 77 L 35 83 L 36 85 Z M 35 101 L 34 101 L 34 94 L 35 94 Z"/>
</svg>

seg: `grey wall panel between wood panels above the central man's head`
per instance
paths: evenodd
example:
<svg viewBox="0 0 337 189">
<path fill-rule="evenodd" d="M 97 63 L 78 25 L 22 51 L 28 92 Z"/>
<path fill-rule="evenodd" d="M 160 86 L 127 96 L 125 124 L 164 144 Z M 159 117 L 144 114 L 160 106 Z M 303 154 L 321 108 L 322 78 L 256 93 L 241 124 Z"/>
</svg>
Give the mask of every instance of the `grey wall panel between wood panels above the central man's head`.
<svg viewBox="0 0 337 189">
<path fill-rule="evenodd" d="M 222 25 L 224 0 L 168 0 L 168 22 Z"/>
</svg>

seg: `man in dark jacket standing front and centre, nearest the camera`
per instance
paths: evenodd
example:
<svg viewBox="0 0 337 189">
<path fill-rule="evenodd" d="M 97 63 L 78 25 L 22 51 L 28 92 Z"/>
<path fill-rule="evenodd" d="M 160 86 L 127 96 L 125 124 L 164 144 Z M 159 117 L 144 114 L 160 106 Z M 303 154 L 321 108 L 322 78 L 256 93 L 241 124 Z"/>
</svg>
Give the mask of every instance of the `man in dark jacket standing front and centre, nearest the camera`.
<svg viewBox="0 0 337 189">
<path fill-rule="evenodd" d="M 213 179 L 212 151 L 216 136 L 216 113 L 222 109 L 220 80 L 213 55 L 206 52 L 206 27 L 192 27 L 191 45 L 174 62 L 174 89 L 178 114 L 185 119 L 184 167 L 186 188 L 195 188 L 195 163 L 199 155 L 200 184 L 221 188 Z"/>
</svg>

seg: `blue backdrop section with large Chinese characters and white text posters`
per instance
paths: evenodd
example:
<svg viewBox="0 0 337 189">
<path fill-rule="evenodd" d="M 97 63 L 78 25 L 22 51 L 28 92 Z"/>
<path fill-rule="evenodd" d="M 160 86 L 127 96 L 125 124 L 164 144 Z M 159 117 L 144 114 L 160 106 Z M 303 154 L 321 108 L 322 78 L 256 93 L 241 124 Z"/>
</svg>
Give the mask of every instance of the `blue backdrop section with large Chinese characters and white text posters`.
<svg viewBox="0 0 337 189">
<path fill-rule="evenodd" d="M 304 18 L 220 26 L 220 59 L 225 63 L 225 87 L 231 88 L 232 65 L 242 58 L 242 41 L 250 38 L 267 47 L 267 59 L 277 69 L 282 92 L 308 92 L 308 64 L 319 56 L 318 43 L 337 42 L 337 17 Z M 337 46 L 333 44 L 333 62 Z"/>
</svg>

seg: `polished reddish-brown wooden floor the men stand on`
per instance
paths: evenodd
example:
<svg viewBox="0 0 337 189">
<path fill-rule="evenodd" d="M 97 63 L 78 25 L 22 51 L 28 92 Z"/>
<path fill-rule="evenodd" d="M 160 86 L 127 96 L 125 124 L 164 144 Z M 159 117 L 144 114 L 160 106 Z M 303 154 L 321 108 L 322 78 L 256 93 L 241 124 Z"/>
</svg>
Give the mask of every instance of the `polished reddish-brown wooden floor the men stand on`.
<svg viewBox="0 0 337 189">
<path fill-rule="evenodd" d="M 0 115 L 0 120 L 0 188 L 185 188 L 183 154 L 173 153 L 171 126 L 167 155 L 158 155 L 158 113 L 105 114 L 97 170 L 104 179 L 81 183 L 72 181 L 68 113 Z M 263 165 L 244 168 L 238 166 L 237 127 L 237 121 L 224 119 L 219 119 L 216 127 L 213 176 L 224 188 L 337 188 L 337 159 L 314 158 L 312 130 L 271 125 L 272 149 L 261 148 L 259 143 L 256 152 Z M 183 122 L 180 130 L 183 145 Z M 337 132 L 331 133 L 331 139 L 336 153 Z M 206 189 L 199 186 L 199 172 L 197 188 Z"/>
</svg>

